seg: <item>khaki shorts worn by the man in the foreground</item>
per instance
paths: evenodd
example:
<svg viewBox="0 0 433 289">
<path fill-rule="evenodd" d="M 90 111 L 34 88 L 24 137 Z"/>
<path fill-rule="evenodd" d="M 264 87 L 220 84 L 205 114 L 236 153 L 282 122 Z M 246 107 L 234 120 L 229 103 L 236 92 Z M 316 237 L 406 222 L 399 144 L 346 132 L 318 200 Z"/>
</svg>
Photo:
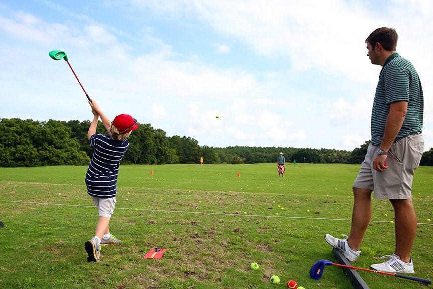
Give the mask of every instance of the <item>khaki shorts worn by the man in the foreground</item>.
<svg viewBox="0 0 433 289">
<path fill-rule="evenodd" d="M 394 142 L 388 151 L 383 172 L 373 169 L 373 160 L 379 146 L 368 146 L 365 160 L 353 187 L 374 191 L 377 199 L 411 199 L 412 181 L 424 152 L 424 138 L 413 134 Z"/>
</svg>

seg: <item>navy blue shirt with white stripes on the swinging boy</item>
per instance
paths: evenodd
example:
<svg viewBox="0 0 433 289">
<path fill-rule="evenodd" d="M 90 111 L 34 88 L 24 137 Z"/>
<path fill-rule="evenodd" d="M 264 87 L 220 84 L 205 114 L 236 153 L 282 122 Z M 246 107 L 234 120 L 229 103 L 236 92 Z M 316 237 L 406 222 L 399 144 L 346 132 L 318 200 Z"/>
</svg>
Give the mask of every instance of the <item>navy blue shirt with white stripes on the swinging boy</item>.
<svg viewBox="0 0 433 289">
<path fill-rule="evenodd" d="M 126 138 L 116 141 L 110 134 L 98 133 L 90 137 L 90 146 L 95 151 L 86 174 L 87 193 L 97 198 L 113 198 L 120 161 L 128 150 L 129 141 Z"/>
</svg>

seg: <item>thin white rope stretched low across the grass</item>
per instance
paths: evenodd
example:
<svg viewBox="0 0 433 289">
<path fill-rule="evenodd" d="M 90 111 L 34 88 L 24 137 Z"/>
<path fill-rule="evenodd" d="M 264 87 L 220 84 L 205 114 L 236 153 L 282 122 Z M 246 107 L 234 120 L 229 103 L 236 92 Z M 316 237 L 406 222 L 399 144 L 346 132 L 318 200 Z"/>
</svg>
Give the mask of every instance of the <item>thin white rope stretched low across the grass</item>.
<svg viewBox="0 0 433 289">
<path fill-rule="evenodd" d="M 86 205 L 68 205 L 68 204 L 56 204 L 56 203 L 25 202 L 25 201 L 6 201 L 6 202 L 22 203 L 22 204 L 35 204 L 35 205 L 94 208 L 94 206 L 86 206 Z M 181 213 L 181 214 L 195 214 L 195 215 L 223 215 L 223 216 L 268 217 L 268 218 L 306 219 L 306 220 L 324 220 L 324 221 L 352 221 L 350 219 L 329 219 L 329 218 L 290 217 L 290 216 L 252 215 L 252 214 L 233 214 L 233 213 L 191 212 L 191 211 L 172 211 L 172 210 L 155 210 L 155 209 L 138 209 L 138 208 L 132 209 L 132 208 L 118 208 L 118 207 L 116 207 L 116 210 L 134 210 L 134 211 L 147 211 L 147 212 L 160 212 L 160 213 Z M 370 222 L 389 223 L 389 221 L 374 221 L 374 220 L 372 220 Z M 418 223 L 418 225 L 433 225 L 433 224 Z"/>
</svg>

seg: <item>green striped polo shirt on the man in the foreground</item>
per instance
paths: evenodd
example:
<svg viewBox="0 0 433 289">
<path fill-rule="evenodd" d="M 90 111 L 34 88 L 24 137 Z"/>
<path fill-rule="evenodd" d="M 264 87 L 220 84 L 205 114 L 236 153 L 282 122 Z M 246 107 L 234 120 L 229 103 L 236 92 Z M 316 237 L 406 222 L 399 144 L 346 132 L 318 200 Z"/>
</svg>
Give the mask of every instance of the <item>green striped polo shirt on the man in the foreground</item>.
<svg viewBox="0 0 433 289">
<path fill-rule="evenodd" d="M 394 142 L 421 133 L 424 113 L 424 95 L 418 73 L 410 61 L 394 53 L 383 65 L 376 87 L 371 113 L 372 145 L 379 146 L 382 142 L 389 105 L 398 101 L 407 101 L 408 106 L 403 125 Z"/>
</svg>

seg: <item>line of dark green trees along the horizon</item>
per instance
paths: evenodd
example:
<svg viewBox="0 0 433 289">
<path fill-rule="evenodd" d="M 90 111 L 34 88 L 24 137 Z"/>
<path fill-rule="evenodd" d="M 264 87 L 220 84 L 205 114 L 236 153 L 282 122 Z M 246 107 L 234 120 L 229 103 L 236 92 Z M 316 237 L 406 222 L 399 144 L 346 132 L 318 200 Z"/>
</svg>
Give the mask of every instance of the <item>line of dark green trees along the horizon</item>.
<svg viewBox="0 0 433 289">
<path fill-rule="evenodd" d="M 90 121 L 34 121 L 19 118 L 0 119 L 0 167 L 36 167 L 88 165 L 93 154 L 87 131 Z M 106 134 L 102 122 L 97 133 Z M 369 141 L 353 151 L 293 147 L 214 148 L 200 146 L 194 138 L 167 136 L 162 129 L 139 123 L 128 139 L 130 147 L 122 164 L 206 164 L 274 163 L 283 152 L 286 163 L 360 164 Z M 425 152 L 421 165 L 433 166 L 433 149 Z"/>
</svg>

